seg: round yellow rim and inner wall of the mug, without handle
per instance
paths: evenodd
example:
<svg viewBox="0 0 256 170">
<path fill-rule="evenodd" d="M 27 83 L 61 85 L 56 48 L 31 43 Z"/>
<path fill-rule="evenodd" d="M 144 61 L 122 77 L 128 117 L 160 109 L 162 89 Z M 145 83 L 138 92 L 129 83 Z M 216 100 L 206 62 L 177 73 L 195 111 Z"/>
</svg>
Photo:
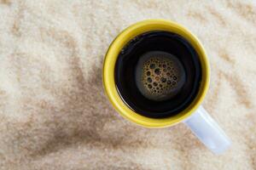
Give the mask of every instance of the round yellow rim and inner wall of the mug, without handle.
<svg viewBox="0 0 256 170">
<path fill-rule="evenodd" d="M 121 99 L 121 96 L 119 95 L 118 88 L 116 88 L 114 81 L 114 67 L 116 60 L 118 59 L 119 52 L 132 38 L 147 31 L 171 31 L 177 33 L 189 41 L 199 55 L 202 70 L 199 92 L 189 106 L 175 116 L 166 118 L 150 118 L 142 116 L 135 111 L 132 111 L 131 108 L 125 104 L 125 101 Z M 193 114 L 201 105 L 201 102 L 207 94 L 207 89 L 209 88 L 210 66 L 207 54 L 201 45 L 201 42 L 189 30 L 171 20 L 143 20 L 127 27 L 124 31 L 121 31 L 110 44 L 103 62 L 102 82 L 110 103 L 121 116 L 143 127 L 170 127 L 178 122 L 182 122 Z"/>
</svg>

